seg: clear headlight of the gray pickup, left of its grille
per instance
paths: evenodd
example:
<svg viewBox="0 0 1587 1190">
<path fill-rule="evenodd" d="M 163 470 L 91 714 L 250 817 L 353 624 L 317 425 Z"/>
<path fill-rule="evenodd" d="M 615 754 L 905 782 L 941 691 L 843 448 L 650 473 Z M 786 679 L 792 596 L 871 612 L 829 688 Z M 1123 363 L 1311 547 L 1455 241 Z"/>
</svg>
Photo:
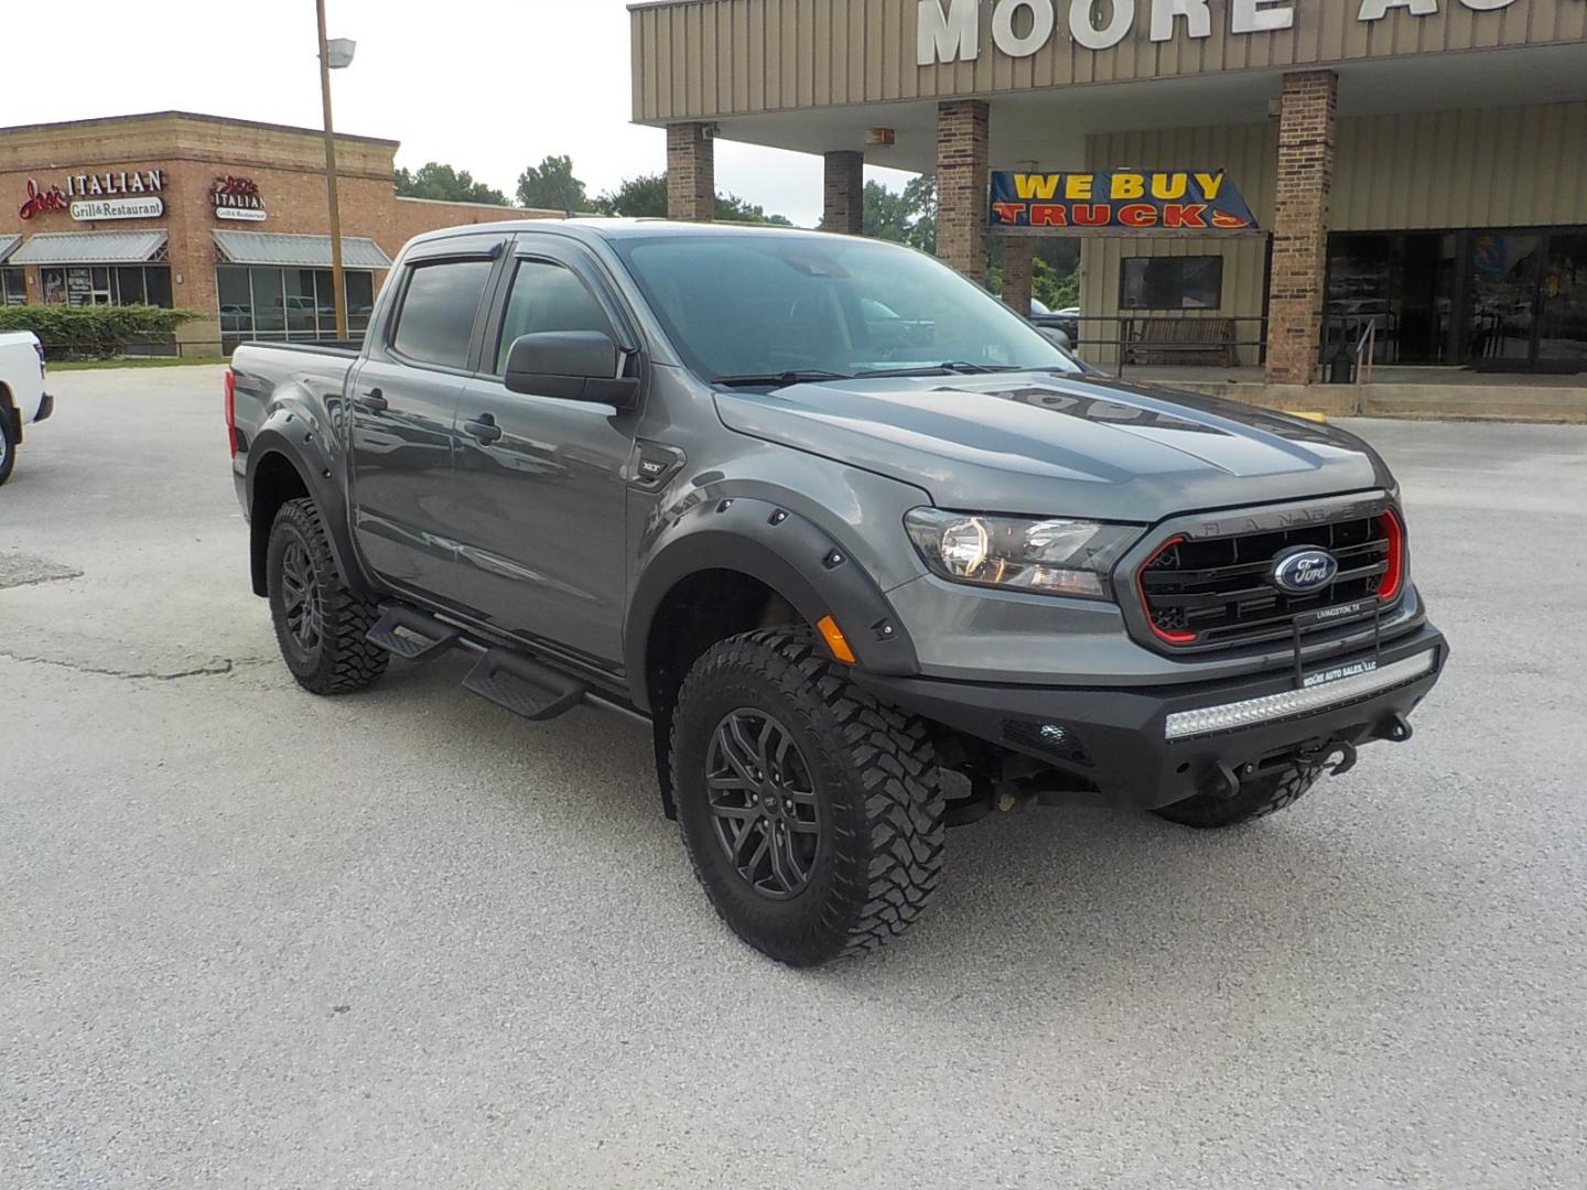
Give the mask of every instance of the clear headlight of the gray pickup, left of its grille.
<svg viewBox="0 0 1587 1190">
<path fill-rule="evenodd" d="M 1136 525 L 936 508 L 916 508 L 903 522 L 925 565 L 944 579 L 1084 600 L 1112 598 L 1108 574 L 1143 532 Z"/>
</svg>

